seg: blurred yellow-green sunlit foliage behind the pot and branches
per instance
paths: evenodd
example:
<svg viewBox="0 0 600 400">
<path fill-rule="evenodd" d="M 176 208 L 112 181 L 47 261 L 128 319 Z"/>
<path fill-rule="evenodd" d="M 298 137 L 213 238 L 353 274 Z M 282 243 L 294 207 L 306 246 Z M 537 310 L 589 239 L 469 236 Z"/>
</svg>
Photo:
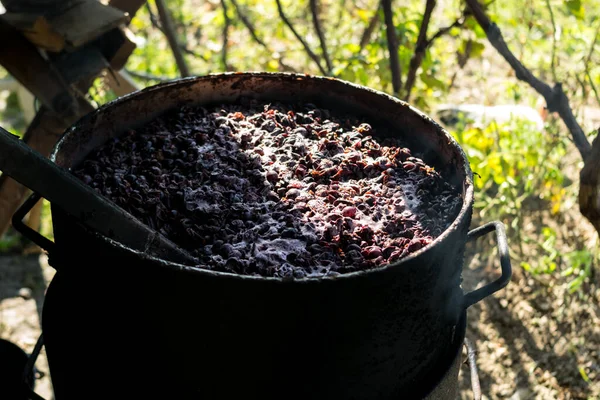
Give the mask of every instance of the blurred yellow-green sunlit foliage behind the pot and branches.
<svg viewBox="0 0 600 400">
<path fill-rule="evenodd" d="M 394 93 L 382 3 L 169 0 L 167 6 L 192 75 L 221 71 L 328 74 Z M 326 53 L 311 5 L 316 7 Z M 420 46 L 425 1 L 392 5 L 403 84 L 396 94 L 401 98 L 410 96 L 411 104 L 434 118 L 440 104 L 539 108 L 539 96 L 517 81 L 465 11 L 463 1 L 437 1 Z M 534 74 L 563 83 L 580 123 L 592 137 L 598 126 L 590 114 L 600 115 L 600 55 L 596 50 L 600 0 L 488 0 L 486 11 Z M 140 87 L 178 78 L 154 1 L 138 12 L 130 28 L 137 49 L 126 71 Z M 412 68 L 414 85 L 408 87 L 416 51 L 422 51 L 422 60 Z M 0 71 L 0 78 L 5 76 Z M 90 97 L 100 105 L 115 95 L 98 79 Z M 0 121 L 15 133 L 25 129 L 16 92 L 0 92 Z M 585 292 L 579 289 L 592 281 L 598 265 L 598 239 L 578 214 L 581 161 L 562 122 L 550 116 L 542 130 L 519 118 L 485 125 L 473 122 L 460 118 L 449 130 L 476 172 L 474 223 L 504 221 L 513 256 L 526 273 L 542 281 L 556 280 L 571 292 Z M 47 205 L 43 218 L 42 229 L 51 235 Z M 18 242 L 9 234 L 0 241 L 0 251 L 19 248 Z M 492 247 L 490 243 L 490 257 Z"/>
</svg>

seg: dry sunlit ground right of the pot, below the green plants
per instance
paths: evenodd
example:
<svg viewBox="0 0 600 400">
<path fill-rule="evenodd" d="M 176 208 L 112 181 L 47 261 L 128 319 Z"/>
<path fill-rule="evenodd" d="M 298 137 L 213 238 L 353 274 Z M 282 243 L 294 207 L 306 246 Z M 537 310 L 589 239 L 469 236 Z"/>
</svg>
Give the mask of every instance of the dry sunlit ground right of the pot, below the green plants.
<svg viewBox="0 0 600 400">
<path fill-rule="evenodd" d="M 476 345 L 484 398 L 600 398 L 600 282 L 596 278 L 579 297 L 514 267 L 504 290 L 468 311 L 467 337 Z M 474 257 L 464 269 L 464 287 L 479 287 L 497 273 L 493 257 Z M 468 368 L 463 372 L 469 375 Z M 462 399 L 472 398 L 469 385 L 463 378 Z"/>
</svg>

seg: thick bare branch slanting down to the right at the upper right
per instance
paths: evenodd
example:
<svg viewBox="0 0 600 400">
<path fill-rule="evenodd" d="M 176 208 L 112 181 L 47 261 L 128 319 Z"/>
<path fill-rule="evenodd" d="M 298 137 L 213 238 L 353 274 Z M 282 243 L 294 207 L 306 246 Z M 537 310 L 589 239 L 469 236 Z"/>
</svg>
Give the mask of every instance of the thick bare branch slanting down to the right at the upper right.
<svg viewBox="0 0 600 400">
<path fill-rule="evenodd" d="M 528 83 L 533 89 L 535 89 L 536 92 L 544 96 L 548 106 L 548 111 L 558 112 L 561 119 L 567 126 L 567 129 L 571 133 L 577 150 L 579 150 L 581 157 L 585 161 L 588 155 L 591 153 L 592 146 L 587 140 L 583 129 L 581 129 L 581 126 L 579 126 L 575 116 L 573 115 L 573 110 L 569 105 L 569 99 L 563 91 L 562 85 L 557 82 L 554 87 L 551 88 L 548 84 L 535 77 L 531 71 L 521 64 L 521 62 L 517 60 L 514 54 L 510 51 L 506 42 L 504 41 L 504 38 L 502 37 L 500 28 L 490 21 L 481 7 L 481 4 L 479 4 L 479 1 L 466 0 L 466 2 L 473 12 L 473 16 L 485 31 L 492 46 L 494 46 L 498 53 L 504 57 L 504 59 L 515 71 L 517 79 Z"/>
</svg>

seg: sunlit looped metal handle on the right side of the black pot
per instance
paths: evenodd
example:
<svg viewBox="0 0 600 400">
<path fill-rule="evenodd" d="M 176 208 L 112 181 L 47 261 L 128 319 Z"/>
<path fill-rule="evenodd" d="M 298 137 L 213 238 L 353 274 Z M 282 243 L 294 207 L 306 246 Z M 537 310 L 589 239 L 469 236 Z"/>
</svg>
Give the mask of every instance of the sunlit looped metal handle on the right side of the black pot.
<svg viewBox="0 0 600 400">
<path fill-rule="evenodd" d="M 508 242 L 506 240 L 506 230 L 504 224 L 500 221 L 488 222 L 485 225 L 475 228 L 467 234 L 467 241 L 475 240 L 492 231 L 496 231 L 496 240 L 498 242 L 498 254 L 500 256 L 500 266 L 502 267 L 502 276 L 494 282 L 485 285 L 482 288 L 476 289 L 467 293 L 464 297 L 464 307 L 469 308 L 473 304 L 483 300 L 484 298 L 496 293 L 504 288 L 510 281 L 512 275 L 512 267 L 510 265 L 510 256 L 508 254 Z"/>
</svg>

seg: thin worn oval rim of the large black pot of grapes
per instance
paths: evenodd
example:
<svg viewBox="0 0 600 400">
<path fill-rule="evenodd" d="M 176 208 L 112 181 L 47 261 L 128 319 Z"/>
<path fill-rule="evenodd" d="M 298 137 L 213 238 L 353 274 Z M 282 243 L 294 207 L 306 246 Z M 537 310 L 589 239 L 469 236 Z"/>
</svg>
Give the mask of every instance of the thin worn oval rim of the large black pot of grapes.
<svg viewBox="0 0 600 400">
<path fill-rule="evenodd" d="M 260 282 L 273 282 L 273 283 L 282 283 L 282 282 L 308 283 L 308 282 L 348 280 L 348 279 L 364 277 L 367 275 L 372 276 L 375 274 L 390 271 L 392 269 L 401 268 L 403 264 L 408 263 L 418 257 L 421 257 L 421 256 L 426 255 L 426 254 L 430 253 L 431 251 L 433 251 L 434 248 L 439 243 L 446 240 L 452 233 L 454 233 L 458 229 L 458 226 L 461 224 L 461 222 L 463 222 L 463 220 L 465 218 L 468 218 L 470 216 L 470 213 L 472 211 L 472 206 L 473 206 L 473 192 L 474 192 L 473 173 L 471 171 L 471 167 L 470 167 L 470 164 L 468 162 L 465 152 L 463 151 L 461 146 L 458 144 L 458 142 L 452 137 L 452 135 L 450 135 L 450 133 L 448 133 L 448 131 L 446 131 L 440 124 L 438 124 L 436 121 L 434 121 L 431 117 L 429 117 L 427 114 L 425 114 L 421 110 L 419 110 L 416 107 L 410 105 L 409 103 L 406 103 L 405 101 L 400 100 L 396 97 L 393 97 L 385 92 L 375 90 L 375 89 L 372 89 L 372 88 L 369 88 L 366 86 L 358 85 L 358 84 L 355 84 L 352 82 L 348 82 L 348 81 L 345 81 L 342 79 L 319 76 L 319 75 L 298 74 L 298 73 L 290 73 L 290 72 L 262 72 L 262 71 L 258 71 L 258 72 L 223 72 L 223 73 L 212 73 L 212 74 L 207 74 L 207 75 L 202 75 L 202 76 L 179 78 L 179 79 L 173 79 L 168 82 L 162 82 L 157 85 L 153 85 L 153 86 L 138 90 L 136 92 L 129 93 L 125 96 L 121 96 L 115 100 L 112 100 L 106 104 L 103 104 L 102 106 L 98 107 L 96 110 L 94 110 L 94 111 L 90 112 L 89 114 L 80 118 L 70 128 L 68 128 L 65 131 L 65 133 L 61 136 L 61 138 L 58 140 L 54 149 L 52 150 L 52 153 L 50 155 L 50 160 L 56 162 L 56 157 L 57 157 L 58 153 L 60 152 L 62 143 L 65 140 L 67 140 L 67 138 L 70 135 L 76 135 L 77 132 L 81 130 L 82 126 L 93 125 L 94 120 L 96 118 L 98 118 L 102 113 L 104 113 L 105 111 L 112 109 L 114 107 L 118 107 L 121 103 L 133 100 L 140 96 L 146 96 L 154 91 L 168 90 L 169 88 L 178 87 L 178 86 L 188 86 L 188 85 L 192 85 L 193 83 L 202 81 L 202 80 L 211 81 L 211 80 L 224 80 L 224 79 L 226 80 L 226 79 L 235 79 L 235 78 L 242 78 L 242 79 L 246 78 L 247 79 L 247 78 L 253 78 L 253 77 L 258 77 L 258 78 L 262 78 L 262 79 L 272 79 L 272 80 L 290 79 L 290 80 L 316 80 L 316 81 L 338 82 L 341 85 L 348 86 L 359 92 L 370 92 L 372 94 L 381 96 L 381 97 L 385 98 L 387 101 L 391 101 L 391 102 L 395 103 L 395 105 L 397 105 L 399 108 L 404 109 L 404 112 L 412 112 L 413 114 L 416 114 L 418 117 L 420 117 L 421 119 L 426 121 L 428 124 L 431 124 L 434 127 L 434 129 L 436 130 L 436 132 L 445 138 L 447 145 L 451 146 L 453 148 L 453 150 L 457 153 L 457 155 L 460 157 L 461 168 L 465 172 L 465 180 L 463 182 L 464 195 L 462 196 L 463 197 L 462 206 L 461 206 L 460 212 L 458 213 L 458 215 L 456 216 L 454 221 L 452 221 L 450 226 L 448 226 L 442 232 L 441 235 L 439 235 L 437 238 L 435 238 L 427 246 L 417 250 L 416 252 L 411 253 L 410 255 L 399 260 L 398 262 L 386 264 L 382 267 L 375 267 L 375 268 L 372 268 L 369 270 L 360 270 L 360 271 L 349 272 L 349 273 L 344 273 L 344 274 L 339 274 L 339 275 L 334 275 L 334 276 L 325 275 L 325 276 L 318 276 L 318 277 L 305 277 L 305 278 L 299 278 L 299 279 L 269 277 L 269 276 L 262 276 L 262 275 L 241 275 L 241 274 L 234 274 L 234 273 L 230 273 L 230 272 L 214 271 L 214 270 L 197 267 L 197 266 L 188 266 L 188 265 L 184 265 L 184 264 L 175 263 L 172 261 L 166 261 L 166 260 L 151 256 L 147 253 L 140 252 L 138 250 L 135 250 L 128 246 L 125 246 L 125 245 L 121 244 L 120 242 L 117 242 L 107 236 L 98 234 L 96 232 L 92 232 L 92 234 L 94 236 L 96 236 L 98 239 L 108 243 L 109 245 L 118 247 L 118 248 L 120 248 L 124 251 L 130 252 L 130 253 L 133 253 L 137 257 L 140 257 L 148 262 L 156 263 L 156 264 L 160 265 L 161 267 L 166 267 L 166 268 L 174 269 L 174 270 L 181 271 L 181 272 L 190 272 L 190 273 L 194 273 L 194 274 L 205 274 L 205 275 L 212 276 L 212 277 L 221 277 L 221 278 L 228 278 L 228 279 L 239 279 L 242 281 L 260 281 Z M 465 233 L 465 237 L 466 237 L 466 233 Z M 466 240 L 466 238 L 465 238 L 465 240 Z"/>
</svg>

